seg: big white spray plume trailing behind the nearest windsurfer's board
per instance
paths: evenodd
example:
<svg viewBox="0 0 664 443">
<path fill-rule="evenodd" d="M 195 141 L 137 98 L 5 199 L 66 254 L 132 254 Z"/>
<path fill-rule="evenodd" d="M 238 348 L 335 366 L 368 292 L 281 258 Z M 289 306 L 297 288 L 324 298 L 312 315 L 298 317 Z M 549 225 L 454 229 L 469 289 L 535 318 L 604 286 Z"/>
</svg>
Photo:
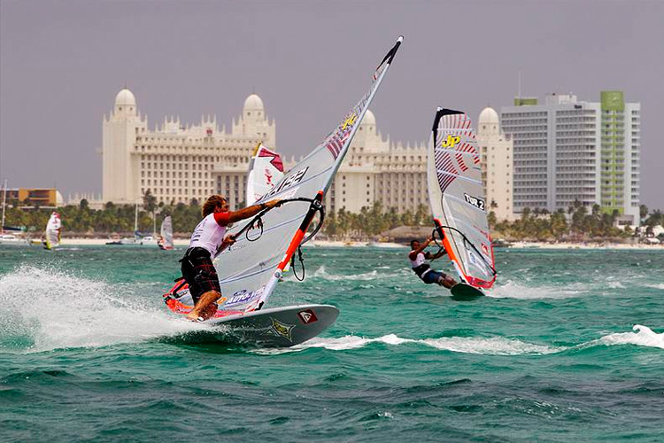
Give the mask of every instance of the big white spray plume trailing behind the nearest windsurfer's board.
<svg viewBox="0 0 664 443">
<path fill-rule="evenodd" d="M 143 294 L 141 294 L 143 295 Z M 205 329 L 169 315 L 127 285 L 23 266 L 0 277 L 0 334 L 28 336 L 30 351 L 140 342 Z"/>
</svg>

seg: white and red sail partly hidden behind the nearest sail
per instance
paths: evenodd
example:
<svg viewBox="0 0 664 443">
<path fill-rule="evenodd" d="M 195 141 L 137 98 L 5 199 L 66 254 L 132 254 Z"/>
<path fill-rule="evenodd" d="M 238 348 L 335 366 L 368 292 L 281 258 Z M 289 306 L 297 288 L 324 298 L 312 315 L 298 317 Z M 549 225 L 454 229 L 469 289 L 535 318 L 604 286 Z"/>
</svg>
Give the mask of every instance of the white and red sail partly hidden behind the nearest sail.
<svg viewBox="0 0 664 443">
<path fill-rule="evenodd" d="M 282 156 L 261 142 L 251 156 L 247 175 L 247 206 L 251 206 L 283 178 Z"/>
</svg>

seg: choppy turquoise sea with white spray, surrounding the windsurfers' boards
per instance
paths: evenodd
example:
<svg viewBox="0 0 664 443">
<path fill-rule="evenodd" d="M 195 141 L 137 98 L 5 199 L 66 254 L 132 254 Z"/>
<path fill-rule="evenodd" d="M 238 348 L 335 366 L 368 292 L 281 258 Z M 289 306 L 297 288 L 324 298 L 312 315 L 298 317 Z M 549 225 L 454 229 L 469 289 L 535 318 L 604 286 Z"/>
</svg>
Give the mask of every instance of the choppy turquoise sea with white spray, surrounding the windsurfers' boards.
<svg viewBox="0 0 664 443">
<path fill-rule="evenodd" d="M 460 302 L 308 248 L 272 306 L 341 315 L 278 350 L 166 343 L 204 327 L 161 301 L 181 253 L 0 249 L 0 440 L 664 440 L 664 251 L 500 250 Z"/>
</svg>

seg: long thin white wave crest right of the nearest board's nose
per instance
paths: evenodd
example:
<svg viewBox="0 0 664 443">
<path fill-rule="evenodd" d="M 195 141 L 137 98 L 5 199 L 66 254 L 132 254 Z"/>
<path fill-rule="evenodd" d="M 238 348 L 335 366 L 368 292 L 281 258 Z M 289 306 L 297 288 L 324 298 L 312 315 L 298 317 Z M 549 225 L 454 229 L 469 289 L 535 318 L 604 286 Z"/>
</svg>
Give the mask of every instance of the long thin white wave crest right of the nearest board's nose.
<svg viewBox="0 0 664 443">
<path fill-rule="evenodd" d="M 435 347 L 436 349 L 444 351 L 483 355 L 553 354 L 567 349 L 564 347 L 533 345 L 509 338 L 451 337 L 412 339 L 400 338 L 395 334 L 388 334 L 379 338 L 364 338 L 353 335 L 347 335 L 341 338 L 312 338 L 301 345 L 292 346 L 290 348 L 261 349 L 258 352 L 259 354 L 283 354 L 303 351 L 313 347 L 322 347 L 331 351 L 346 351 L 350 349 L 359 349 L 371 343 L 383 343 L 390 346 L 411 343 Z"/>
</svg>

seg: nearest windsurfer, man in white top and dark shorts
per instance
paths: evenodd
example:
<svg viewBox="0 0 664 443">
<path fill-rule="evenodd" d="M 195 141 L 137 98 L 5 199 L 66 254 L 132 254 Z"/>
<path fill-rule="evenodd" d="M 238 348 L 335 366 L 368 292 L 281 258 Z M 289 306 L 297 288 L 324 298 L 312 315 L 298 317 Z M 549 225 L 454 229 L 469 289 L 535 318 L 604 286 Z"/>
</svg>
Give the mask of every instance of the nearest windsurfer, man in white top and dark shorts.
<svg viewBox="0 0 664 443">
<path fill-rule="evenodd" d="M 248 219 L 266 208 L 278 206 L 280 199 L 270 200 L 230 212 L 228 201 L 220 195 L 213 195 L 203 205 L 203 220 L 194 229 L 189 241 L 189 249 L 180 260 L 182 276 L 189 284 L 189 293 L 196 304 L 187 318 L 206 320 L 217 310 L 221 299 L 221 288 L 212 259 L 217 253 L 235 243 L 233 236 L 226 236 L 229 223 Z"/>
</svg>

